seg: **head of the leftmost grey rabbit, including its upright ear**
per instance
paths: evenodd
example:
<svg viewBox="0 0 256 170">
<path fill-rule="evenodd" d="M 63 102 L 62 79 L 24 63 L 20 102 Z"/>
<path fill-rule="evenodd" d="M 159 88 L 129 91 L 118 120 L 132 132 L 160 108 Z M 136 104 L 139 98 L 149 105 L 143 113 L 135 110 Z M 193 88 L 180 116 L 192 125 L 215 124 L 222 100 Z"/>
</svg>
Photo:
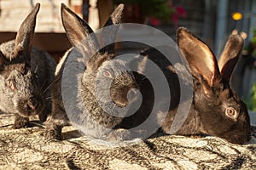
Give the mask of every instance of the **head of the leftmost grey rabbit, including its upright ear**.
<svg viewBox="0 0 256 170">
<path fill-rule="evenodd" d="M 38 93 L 40 90 L 35 83 L 37 68 L 31 65 L 32 39 L 39 7 L 37 3 L 23 21 L 15 41 L 0 45 L 0 109 L 24 117 L 39 114 L 44 108 L 43 96 Z"/>
</svg>

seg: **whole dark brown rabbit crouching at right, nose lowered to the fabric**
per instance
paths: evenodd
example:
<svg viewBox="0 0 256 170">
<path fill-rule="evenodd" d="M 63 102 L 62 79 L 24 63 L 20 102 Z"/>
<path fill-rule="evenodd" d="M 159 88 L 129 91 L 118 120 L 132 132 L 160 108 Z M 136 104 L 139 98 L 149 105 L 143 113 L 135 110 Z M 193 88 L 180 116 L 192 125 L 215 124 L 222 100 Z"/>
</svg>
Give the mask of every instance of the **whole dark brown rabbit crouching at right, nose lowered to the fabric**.
<svg viewBox="0 0 256 170">
<path fill-rule="evenodd" d="M 161 129 L 167 134 L 185 136 L 212 135 L 226 139 L 230 143 L 244 144 L 251 139 L 250 118 L 247 105 L 238 97 L 230 86 L 232 72 L 238 62 L 243 47 L 243 39 L 239 35 L 230 35 L 223 53 L 218 61 L 211 48 L 188 29 L 177 29 L 177 46 L 182 59 L 187 64 L 175 67 L 167 63 L 165 57 L 154 48 L 148 48 L 141 55 L 152 59 L 165 73 L 172 94 L 172 104 L 166 116 L 158 114 Z M 164 64 L 163 64 L 164 63 Z M 183 69 L 180 69 L 183 68 Z M 178 82 L 177 71 L 183 70 L 183 82 Z M 193 98 L 182 126 L 172 131 L 172 123 L 180 106 L 180 84 L 186 82 L 191 73 Z M 189 84 L 189 83 L 188 83 Z M 140 87 L 147 88 L 147 87 Z M 185 102 L 185 101 L 184 101 Z"/>
</svg>

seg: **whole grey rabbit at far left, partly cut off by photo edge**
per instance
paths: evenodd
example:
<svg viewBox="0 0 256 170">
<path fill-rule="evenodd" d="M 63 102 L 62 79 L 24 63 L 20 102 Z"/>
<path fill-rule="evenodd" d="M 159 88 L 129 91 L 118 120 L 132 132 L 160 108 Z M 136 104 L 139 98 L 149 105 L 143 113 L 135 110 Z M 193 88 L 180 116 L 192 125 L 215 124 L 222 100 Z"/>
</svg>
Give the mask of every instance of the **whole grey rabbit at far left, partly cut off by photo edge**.
<svg viewBox="0 0 256 170">
<path fill-rule="evenodd" d="M 0 45 L 0 111 L 15 114 L 14 128 L 27 127 L 32 115 L 44 122 L 51 111 L 49 85 L 55 60 L 32 48 L 39 8 L 37 3 L 27 15 L 15 40 Z"/>
</svg>

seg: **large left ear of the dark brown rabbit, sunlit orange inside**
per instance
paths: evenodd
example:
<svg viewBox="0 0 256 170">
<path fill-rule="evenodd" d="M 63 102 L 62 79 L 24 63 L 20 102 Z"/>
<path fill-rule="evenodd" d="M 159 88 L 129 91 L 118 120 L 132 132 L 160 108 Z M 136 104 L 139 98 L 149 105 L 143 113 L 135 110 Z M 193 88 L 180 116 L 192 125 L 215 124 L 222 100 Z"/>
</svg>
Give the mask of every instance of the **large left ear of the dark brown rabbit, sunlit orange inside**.
<svg viewBox="0 0 256 170">
<path fill-rule="evenodd" d="M 210 87 L 219 80 L 218 63 L 212 50 L 186 28 L 177 30 L 177 44 L 194 77 L 204 78 Z"/>
</svg>

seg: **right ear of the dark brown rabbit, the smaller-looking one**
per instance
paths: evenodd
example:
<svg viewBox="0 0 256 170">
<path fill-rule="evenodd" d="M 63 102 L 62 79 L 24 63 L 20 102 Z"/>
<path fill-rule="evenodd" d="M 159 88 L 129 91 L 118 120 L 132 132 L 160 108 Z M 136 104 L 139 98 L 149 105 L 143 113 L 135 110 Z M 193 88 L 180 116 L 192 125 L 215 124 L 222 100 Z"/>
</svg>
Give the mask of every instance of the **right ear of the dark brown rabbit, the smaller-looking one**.
<svg viewBox="0 0 256 170">
<path fill-rule="evenodd" d="M 236 63 L 240 58 L 243 48 L 243 39 L 240 35 L 231 35 L 226 42 L 223 53 L 218 59 L 220 75 L 225 81 L 230 82 Z"/>
</svg>

